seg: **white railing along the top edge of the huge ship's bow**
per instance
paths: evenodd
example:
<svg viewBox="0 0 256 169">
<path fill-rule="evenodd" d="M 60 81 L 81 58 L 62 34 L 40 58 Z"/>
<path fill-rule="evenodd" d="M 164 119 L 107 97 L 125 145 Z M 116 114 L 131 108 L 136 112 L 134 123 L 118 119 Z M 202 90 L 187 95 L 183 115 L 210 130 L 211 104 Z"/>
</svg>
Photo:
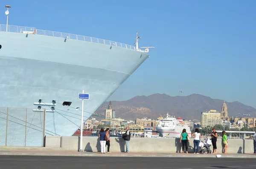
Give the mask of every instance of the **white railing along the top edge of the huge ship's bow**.
<svg viewBox="0 0 256 169">
<path fill-rule="evenodd" d="M 0 32 L 6 32 L 6 25 L 0 24 Z M 127 45 L 127 44 L 119 43 L 119 42 L 114 42 L 111 40 L 104 40 L 104 39 L 99 39 L 99 38 L 95 38 L 95 37 L 87 37 L 87 36 L 82 36 L 82 35 L 77 35 L 77 34 L 45 31 L 45 30 L 35 29 L 33 27 L 8 25 L 7 32 L 15 32 L 15 33 L 23 33 L 23 34 L 38 34 L 38 35 L 52 36 L 52 37 L 63 37 L 63 38 L 68 38 L 68 39 L 83 40 L 83 41 L 87 41 L 87 42 L 101 43 L 101 44 L 105 44 L 105 45 L 112 45 L 112 46 L 117 46 L 117 47 L 121 47 L 121 48 L 135 50 L 135 46 L 131 46 L 131 45 Z"/>
</svg>

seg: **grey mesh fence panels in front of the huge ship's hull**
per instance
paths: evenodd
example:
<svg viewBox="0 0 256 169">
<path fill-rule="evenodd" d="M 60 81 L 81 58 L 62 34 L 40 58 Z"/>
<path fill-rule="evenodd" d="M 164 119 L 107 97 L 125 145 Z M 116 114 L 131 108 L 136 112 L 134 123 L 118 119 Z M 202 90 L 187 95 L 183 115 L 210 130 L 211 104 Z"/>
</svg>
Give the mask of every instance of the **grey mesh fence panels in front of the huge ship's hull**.
<svg viewBox="0 0 256 169">
<path fill-rule="evenodd" d="M 0 146 L 44 146 L 45 110 L 0 107 Z"/>
</svg>

